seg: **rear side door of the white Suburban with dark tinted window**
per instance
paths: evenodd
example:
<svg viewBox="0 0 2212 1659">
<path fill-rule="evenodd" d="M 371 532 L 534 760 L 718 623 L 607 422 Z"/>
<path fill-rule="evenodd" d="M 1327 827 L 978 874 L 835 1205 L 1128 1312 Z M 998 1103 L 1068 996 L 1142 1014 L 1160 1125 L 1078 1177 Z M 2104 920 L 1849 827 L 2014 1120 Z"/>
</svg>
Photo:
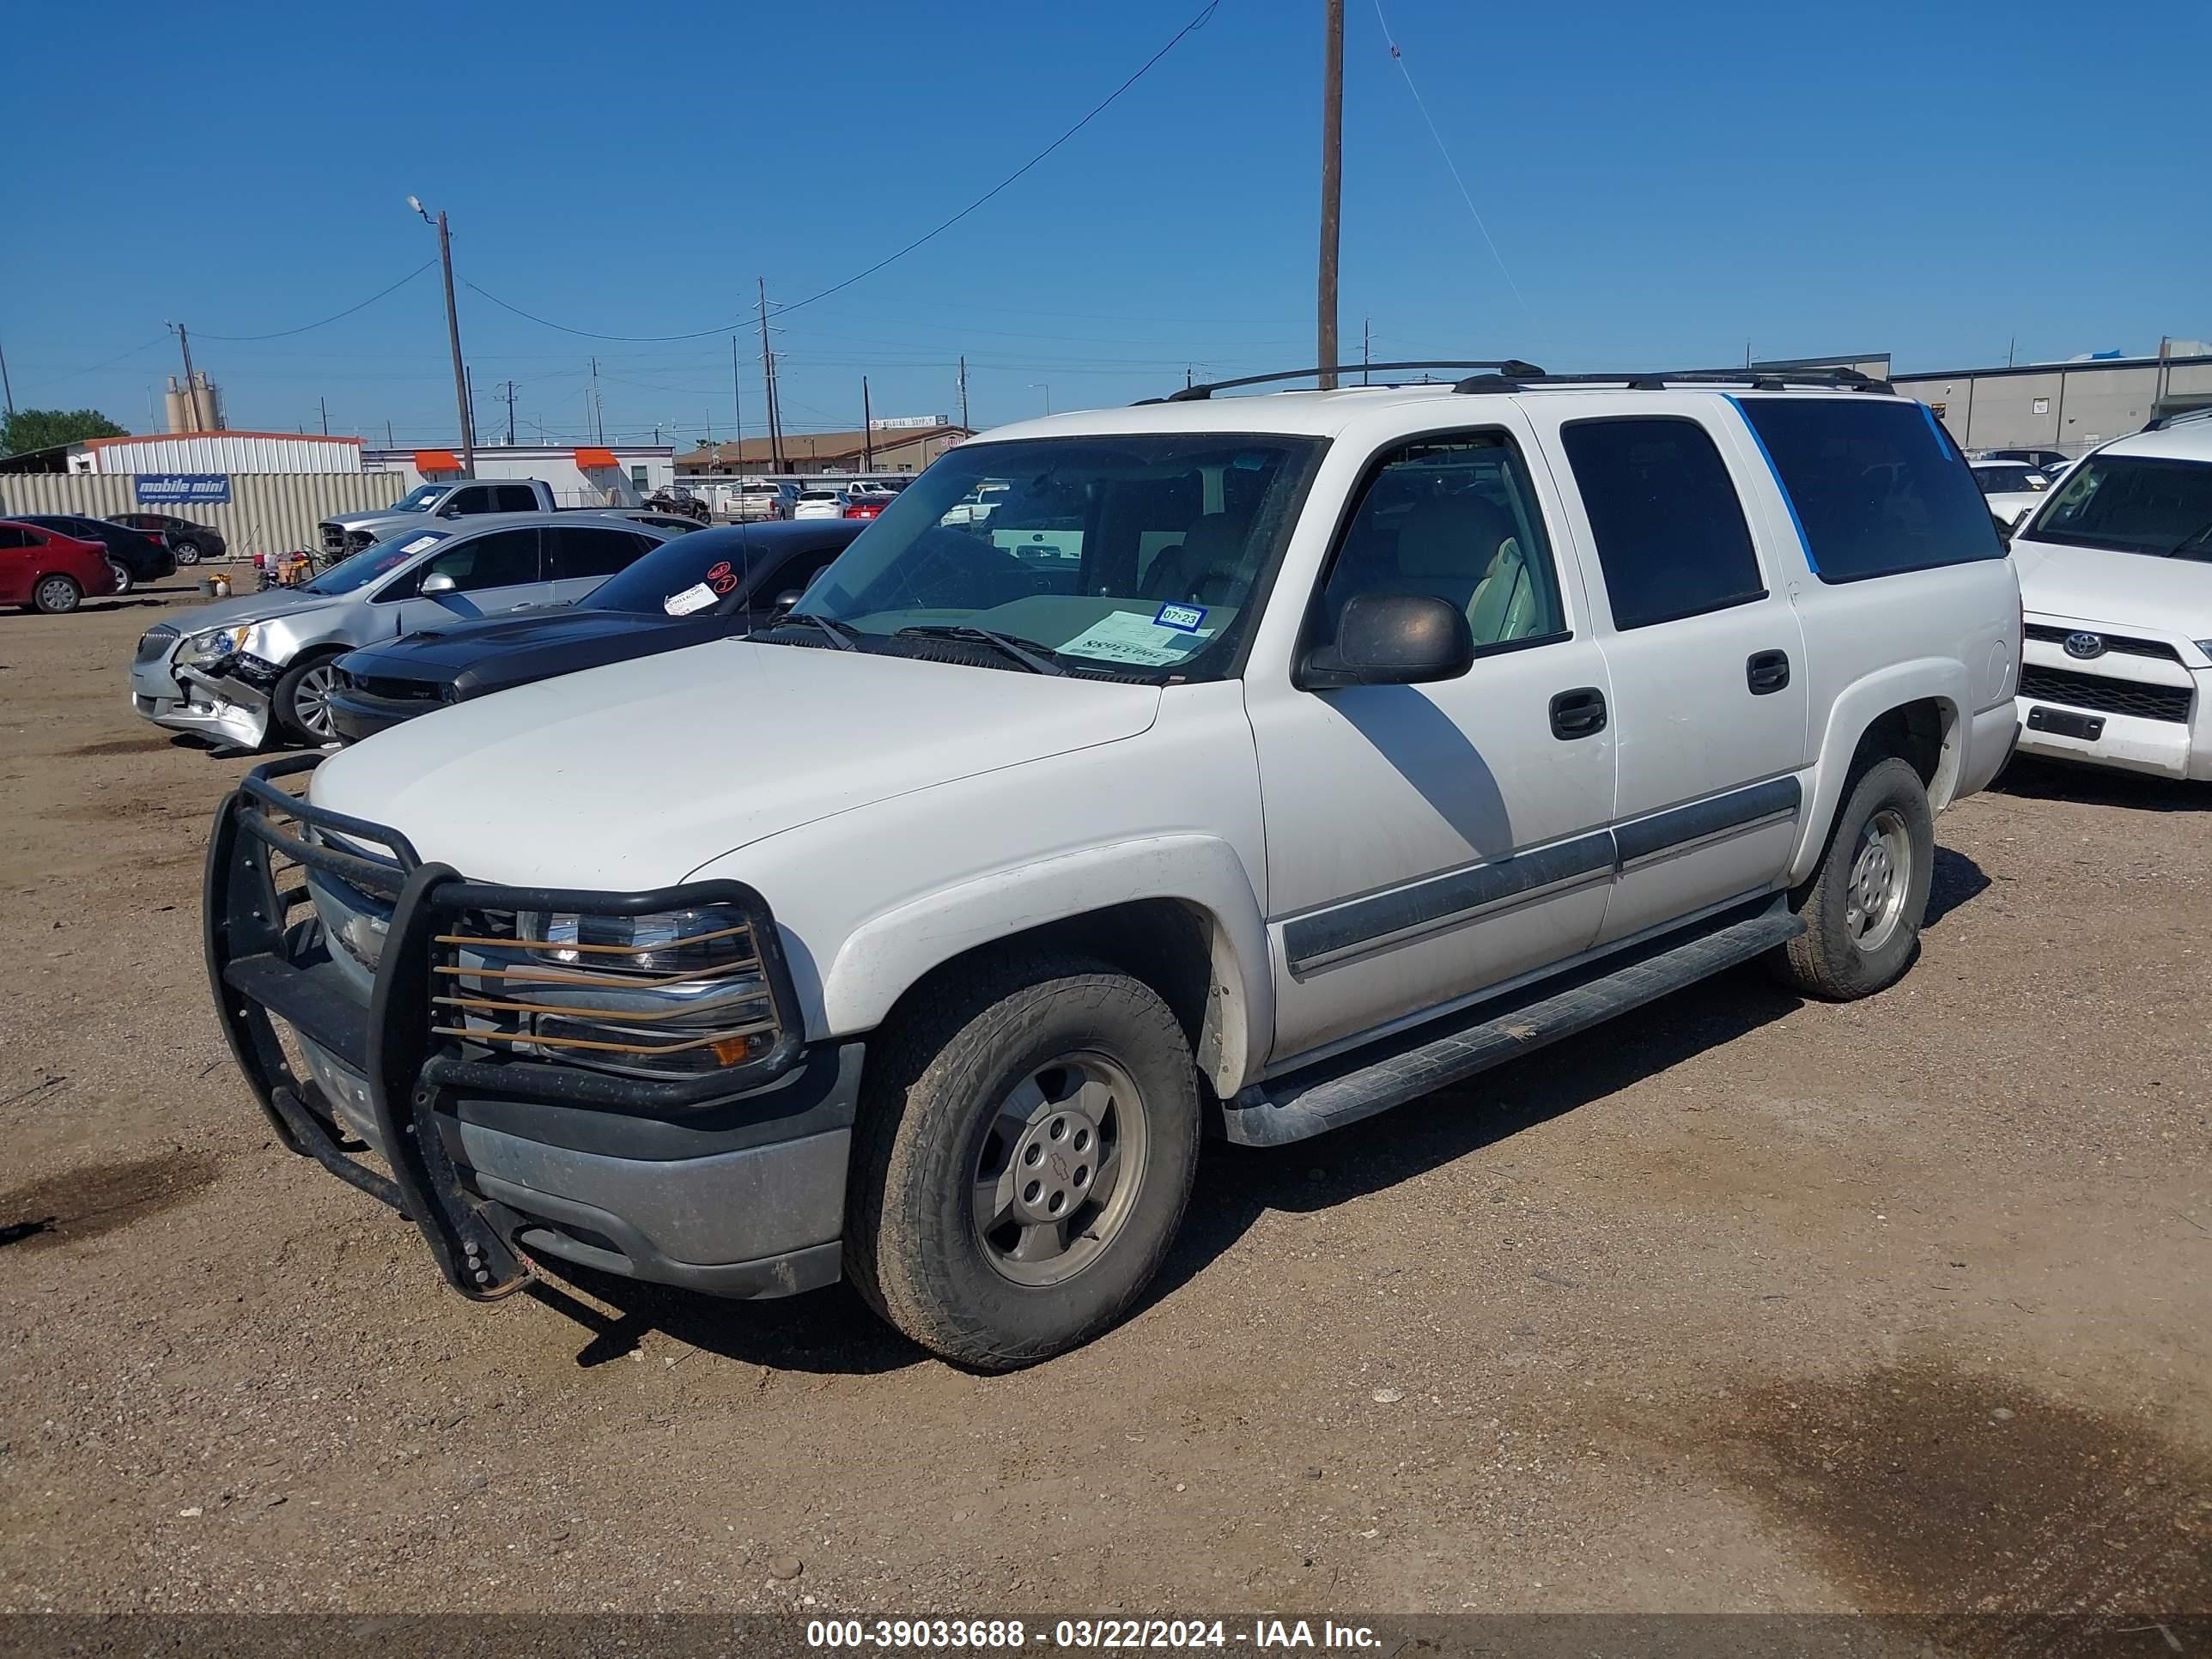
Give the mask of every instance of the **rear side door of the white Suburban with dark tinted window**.
<svg viewBox="0 0 2212 1659">
<path fill-rule="evenodd" d="M 1805 639 L 1745 498 L 1763 462 L 1710 394 L 1528 398 L 1613 681 L 1619 878 L 1610 942 L 1772 887 L 1803 810 Z"/>
</svg>

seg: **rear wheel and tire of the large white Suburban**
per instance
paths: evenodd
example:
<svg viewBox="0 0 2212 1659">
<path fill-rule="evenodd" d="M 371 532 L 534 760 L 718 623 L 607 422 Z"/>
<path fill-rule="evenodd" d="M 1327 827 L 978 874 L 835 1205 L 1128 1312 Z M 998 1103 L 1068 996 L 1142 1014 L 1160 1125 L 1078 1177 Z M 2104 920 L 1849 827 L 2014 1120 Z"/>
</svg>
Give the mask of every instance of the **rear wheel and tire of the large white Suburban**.
<svg viewBox="0 0 2212 1659">
<path fill-rule="evenodd" d="M 1909 761 L 1885 757 L 1843 792 L 1812 883 L 1792 894 L 1805 931 L 1774 953 L 1776 978 L 1829 1002 L 1896 984 L 1920 951 L 1936 878 L 1936 814 Z"/>
</svg>

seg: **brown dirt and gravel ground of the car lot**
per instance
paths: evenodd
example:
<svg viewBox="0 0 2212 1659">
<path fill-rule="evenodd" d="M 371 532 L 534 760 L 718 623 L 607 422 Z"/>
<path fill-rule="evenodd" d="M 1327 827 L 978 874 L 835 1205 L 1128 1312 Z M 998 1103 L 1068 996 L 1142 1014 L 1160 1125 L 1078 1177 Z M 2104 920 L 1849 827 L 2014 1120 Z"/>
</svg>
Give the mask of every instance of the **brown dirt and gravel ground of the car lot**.
<svg viewBox="0 0 2212 1659">
<path fill-rule="evenodd" d="M 843 1287 L 449 1294 L 199 960 L 181 584 L 0 615 L 0 1610 L 2212 1610 L 2212 790 L 2020 770 L 1922 960 L 1208 1152 L 980 1378 Z M 619 1301 L 611 1301 L 619 1296 Z"/>
</svg>

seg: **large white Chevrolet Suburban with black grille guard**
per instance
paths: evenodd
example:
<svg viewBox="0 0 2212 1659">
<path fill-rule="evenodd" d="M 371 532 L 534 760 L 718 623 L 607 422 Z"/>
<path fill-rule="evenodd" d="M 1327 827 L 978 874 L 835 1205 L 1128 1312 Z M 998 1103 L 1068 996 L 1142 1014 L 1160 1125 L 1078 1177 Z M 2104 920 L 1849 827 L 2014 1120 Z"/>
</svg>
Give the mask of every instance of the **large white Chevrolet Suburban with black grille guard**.
<svg viewBox="0 0 2212 1659">
<path fill-rule="evenodd" d="M 765 633 L 250 774 L 206 947 L 276 1133 L 469 1296 L 847 1274 L 1009 1367 L 1203 1135 L 1754 958 L 1887 987 L 2017 737 L 1960 453 L 1849 374 L 1449 367 L 1002 429 Z"/>
</svg>

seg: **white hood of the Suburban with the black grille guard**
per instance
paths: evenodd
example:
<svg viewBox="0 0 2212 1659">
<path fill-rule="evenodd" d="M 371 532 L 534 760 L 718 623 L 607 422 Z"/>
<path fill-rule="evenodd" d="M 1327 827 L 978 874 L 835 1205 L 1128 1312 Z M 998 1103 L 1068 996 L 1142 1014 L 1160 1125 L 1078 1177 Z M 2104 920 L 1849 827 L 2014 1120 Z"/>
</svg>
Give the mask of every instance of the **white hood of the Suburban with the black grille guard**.
<svg viewBox="0 0 2212 1659">
<path fill-rule="evenodd" d="M 719 639 L 332 754 L 316 805 L 478 880 L 666 887 L 814 818 L 1144 732 L 1157 686 Z"/>
</svg>

